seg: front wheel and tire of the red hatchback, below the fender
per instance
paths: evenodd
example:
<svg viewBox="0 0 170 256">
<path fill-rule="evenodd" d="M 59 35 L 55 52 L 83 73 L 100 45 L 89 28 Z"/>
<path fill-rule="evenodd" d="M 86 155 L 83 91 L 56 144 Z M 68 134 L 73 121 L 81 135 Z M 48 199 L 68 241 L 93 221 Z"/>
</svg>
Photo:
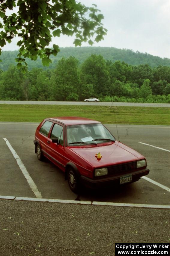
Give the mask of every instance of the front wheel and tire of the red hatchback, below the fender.
<svg viewBox="0 0 170 256">
<path fill-rule="evenodd" d="M 79 178 L 77 176 L 77 173 L 73 168 L 69 168 L 67 172 L 67 179 L 68 179 L 68 185 L 74 193 L 77 193 L 79 191 Z"/>
</svg>

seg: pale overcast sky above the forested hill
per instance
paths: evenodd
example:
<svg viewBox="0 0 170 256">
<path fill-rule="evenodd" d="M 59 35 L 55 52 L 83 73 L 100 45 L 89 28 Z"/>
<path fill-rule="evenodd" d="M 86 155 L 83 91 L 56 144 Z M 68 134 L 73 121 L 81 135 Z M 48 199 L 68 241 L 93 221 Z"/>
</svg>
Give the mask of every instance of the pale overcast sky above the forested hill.
<svg viewBox="0 0 170 256">
<path fill-rule="evenodd" d="M 105 39 L 94 46 L 132 49 L 170 58 L 170 0 L 79 0 L 86 6 L 97 5 L 104 15 Z M 74 38 L 55 37 L 52 44 L 74 46 Z M 52 45 L 51 44 L 51 45 Z M 89 46 L 88 43 L 82 46 Z M 16 50 L 16 40 L 2 50 Z"/>
</svg>

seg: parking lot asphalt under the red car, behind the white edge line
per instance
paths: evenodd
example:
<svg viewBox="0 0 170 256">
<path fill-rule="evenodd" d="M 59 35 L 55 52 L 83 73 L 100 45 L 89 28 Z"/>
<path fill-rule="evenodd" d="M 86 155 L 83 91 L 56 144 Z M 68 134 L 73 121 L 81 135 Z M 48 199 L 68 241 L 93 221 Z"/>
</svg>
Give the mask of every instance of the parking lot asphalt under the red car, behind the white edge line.
<svg viewBox="0 0 170 256">
<path fill-rule="evenodd" d="M 76 195 L 70 191 L 61 170 L 49 161 L 40 162 L 34 153 L 34 123 L 1 123 L 1 188 L 0 195 L 16 197 L 35 197 L 21 172 L 4 138 L 21 159 L 26 170 L 41 193 L 42 198 L 104 201 L 133 204 L 169 205 L 170 188 L 169 154 L 170 127 L 168 126 L 130 126 L 118 125 L 120 141 L 139 151 L 147 159 L 150 173 L 145 179 L 109 191 L 82 191 Z M 109 130 L 118 137 L 115 125 L 108 125 Z M 143 144 L 145 143 L 145 144 Z M 153 145 L 151 147 L 149 145 Z M 160 183 L 160 186 L 152 182 Z M 77 198 L 78 196 L 78 198 Z"/>
</svg>

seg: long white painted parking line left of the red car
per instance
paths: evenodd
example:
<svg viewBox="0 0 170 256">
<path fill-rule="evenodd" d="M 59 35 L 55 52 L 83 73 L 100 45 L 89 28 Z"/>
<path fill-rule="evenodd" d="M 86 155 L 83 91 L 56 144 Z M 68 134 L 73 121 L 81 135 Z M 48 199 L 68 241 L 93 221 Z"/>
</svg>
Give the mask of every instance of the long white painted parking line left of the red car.
<svg viewBox="0 0 170 256">
<path fill-rule="evenodd" d="M 32 189 L 32 192 L 34 193 L 34 195 L 37 198 L 42 198 L 41 193 L 38 191 L 37 186 L 35 185 L 34 181 L 31 179 L 31 177 L 30 177 L 27 169 L 25 168 L 24 164 L 22 163 L 21 159 L 16 154 L 16 151 L 13 149 L 13 147 L 10 145 L 10 142 L 6 138 L 3 138 L 3 139 L 6 142 L 6 144 L 7 144 L 8 148 L 10 149 L 11 153 L 13 154 L 13 157 L 16 159 L 16 162 L 17 162 L 19 168 L 21 169 L 23 175 L 25 176 L 25 179 L 27 180 L 30 188 Z"/>
</svg>

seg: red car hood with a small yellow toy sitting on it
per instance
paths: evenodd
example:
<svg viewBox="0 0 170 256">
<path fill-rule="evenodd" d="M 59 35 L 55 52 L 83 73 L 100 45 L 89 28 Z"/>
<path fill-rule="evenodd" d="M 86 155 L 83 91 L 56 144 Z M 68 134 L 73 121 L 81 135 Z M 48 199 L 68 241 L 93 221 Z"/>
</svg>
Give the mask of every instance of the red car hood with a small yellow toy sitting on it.
<svg viewBox="0 0 170 256">
<path fill-rule="evenodd" d="M 107 143 L 103 146 L 98 144 L 95 147 L 71 147 L 70 149 L 95 168 L 144 158 L 137 151 L 121 142 Z M 100 160 L 95 157 L 99 152 L 102 155 Z"/>
</svg>

